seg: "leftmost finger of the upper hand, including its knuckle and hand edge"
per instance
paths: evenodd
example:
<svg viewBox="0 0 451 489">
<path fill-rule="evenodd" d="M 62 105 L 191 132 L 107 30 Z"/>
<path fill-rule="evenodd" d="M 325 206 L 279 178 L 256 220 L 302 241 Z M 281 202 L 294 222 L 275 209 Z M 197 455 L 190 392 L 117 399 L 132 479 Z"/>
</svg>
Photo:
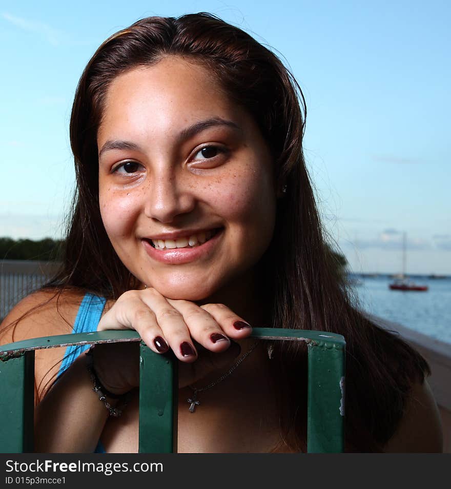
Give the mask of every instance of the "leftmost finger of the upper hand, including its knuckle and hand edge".
<svg viewBox="0 0 451 489">
<path fill-rule="evenodd" d="M 141 300 L 140 295 L 134 292 L 138 291 L 129 291 L 120 296 L 113 307 L 100 319 L 97 331 L 135 330 L 152 351 L 166 353 L 169 345 L 155 314 Z"/>
</svg>

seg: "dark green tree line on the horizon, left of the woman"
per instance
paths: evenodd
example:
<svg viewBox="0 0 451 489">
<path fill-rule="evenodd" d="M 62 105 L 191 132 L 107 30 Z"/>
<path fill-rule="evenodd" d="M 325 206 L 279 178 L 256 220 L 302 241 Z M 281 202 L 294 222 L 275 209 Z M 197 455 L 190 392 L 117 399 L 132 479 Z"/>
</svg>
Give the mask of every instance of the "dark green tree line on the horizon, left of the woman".
<svg viewBox="0 0 451 489">
<path fill-rule="evenodd" d="M 0 259 L 59 261 L 63 240 L 0 238 Z"/>
</svg>

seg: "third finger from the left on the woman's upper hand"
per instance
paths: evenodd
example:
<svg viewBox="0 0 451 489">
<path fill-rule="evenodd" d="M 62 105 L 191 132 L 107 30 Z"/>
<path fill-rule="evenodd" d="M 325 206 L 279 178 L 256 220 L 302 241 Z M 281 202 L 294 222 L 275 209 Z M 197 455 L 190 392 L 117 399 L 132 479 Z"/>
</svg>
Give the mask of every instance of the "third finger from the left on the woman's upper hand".
<svg viewBox="0 0 451 489">
<path fill-rule="evenodd" d="M 230 339 L 208 311 L 188 300 L 167 300 L 183 316 L 191 337 L 202 347 L 212 352 L 223 352 L 230 347 Z"/>
</svg>

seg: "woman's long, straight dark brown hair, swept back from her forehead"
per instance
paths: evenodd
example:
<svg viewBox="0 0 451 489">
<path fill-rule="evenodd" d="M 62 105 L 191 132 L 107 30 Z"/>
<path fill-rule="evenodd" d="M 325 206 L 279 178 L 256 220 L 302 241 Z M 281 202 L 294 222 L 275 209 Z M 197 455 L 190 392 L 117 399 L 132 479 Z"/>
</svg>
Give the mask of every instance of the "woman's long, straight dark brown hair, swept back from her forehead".
<svg viewBox="0 0 451 489">
<path fill-rule="evenodd" d="M 260 267 L 273 300 L 270 322 L 275 328 L 331 331 L 345 337 L 348 450 L 381 450 L 402 416 L 412 382 L 428 373 L 427 364 L 406 343 L 368 321 L 337 274 L 305 167 L 306 110 L 296 80 L 273 52 L 213 15 L 141 19 L 108 38 L 92 56 L 72 109 L 77 194 L 63 269 L 50 286 L 73 286 L 112 299 L 135 286 L 100 217 L 96 135 L 112 80 L 169 55 L 207 67 L 228 96 L 254 117 L 268 141 L 278 186 L 287 186 Z M 281 344 L 273 362 L 284 393 L 283 450 L 305 450 L 305 392 L 299 388 L 305 381 L 304 357 L 302 347 Z"/>
</svg>

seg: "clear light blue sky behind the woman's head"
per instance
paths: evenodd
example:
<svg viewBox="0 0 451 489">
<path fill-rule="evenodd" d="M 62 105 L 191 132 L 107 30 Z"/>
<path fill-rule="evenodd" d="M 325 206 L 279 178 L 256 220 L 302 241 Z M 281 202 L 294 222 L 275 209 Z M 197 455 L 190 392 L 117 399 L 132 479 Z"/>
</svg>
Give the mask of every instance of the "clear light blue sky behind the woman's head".
<svg viewBox="0 0 451 489">
<path fill-rule="evenodd" d="M 356 272 L 451 274 L 451 3 L 0 2 L 0 236 L 59 237 L 73 190 L 77 81 L 103 40 L 149 15 L 208 11 L 280 53 L 308 107 L 326 229 Z"/>
</svg>

